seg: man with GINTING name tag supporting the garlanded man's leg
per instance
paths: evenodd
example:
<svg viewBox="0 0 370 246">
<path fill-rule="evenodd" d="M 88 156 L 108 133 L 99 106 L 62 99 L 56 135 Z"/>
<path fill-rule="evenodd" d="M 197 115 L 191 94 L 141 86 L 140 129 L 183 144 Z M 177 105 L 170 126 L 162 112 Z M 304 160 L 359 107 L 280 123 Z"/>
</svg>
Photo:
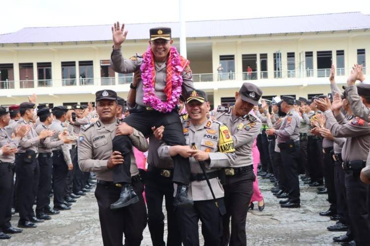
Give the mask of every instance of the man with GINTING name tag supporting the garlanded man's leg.
<svg viewBox="0 0 370 246">
<path fill-rule="evenodd" d="M 107 92 L 108 95 L 104 92 Z M 130 173 L 132 186 L 138 194 L 139 202 L 120 210 L 111 210 L 111 203 L 121 194 L 121 187 L 113 183 L 113 168 L 122 165 L 121 153 L 112 152 L 112 140 L 116 134 L 119 120 L 117 111 L 117 94 L 111 90 L 96 92 L 96 109 L 99 120 L 95 124 L 86 125 L 81 129 L 78 138 L 78 165 L 84 172 L 96 173 L 97 186 L 95 197 L 99 207 L 99 219 L 102 230 L 103 244 L 139 246 L 143 239 L 143 230 L 147 225 L 147 212 L 143 199 L 144 185 L 139 176 L 132 150 Z M 125 133 L 140 151 L 148 149 L 144 135 L 123 123 Z"/>
</svg>

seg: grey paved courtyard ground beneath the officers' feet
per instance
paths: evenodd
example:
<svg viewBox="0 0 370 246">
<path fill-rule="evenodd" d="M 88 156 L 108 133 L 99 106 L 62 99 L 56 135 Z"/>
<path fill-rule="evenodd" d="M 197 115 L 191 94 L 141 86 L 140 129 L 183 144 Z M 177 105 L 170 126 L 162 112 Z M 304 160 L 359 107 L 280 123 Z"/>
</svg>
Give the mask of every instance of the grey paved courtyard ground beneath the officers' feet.
<svg viewBox="0 0 370 246">
<path fill-rule="evenodd" d="M 278 199 L 269 191 L 272 184 L 268 179 L 259 179 L 259 185 L 265 209 L 258 211 L 255 203 L 255 210 L 248 213 L 249 246 L 337 245 L 332 238 L 344 232 L 329 232 L 326 227 L 335 221 L 318 214 L 328 209 L 327 195 L 317 195 L 316 188 L 301 185 L 301 208 L 281 209 Z M 18 219 L 16 213 L 12 218 L 13 226 L 17 225 Z M 51 220 L 37 224 L 36 229 L 24 229 L 23 233 L 13 235 L 10 240 L 0 241 L 0 245 L 103 245 L 94 193 L 79 198 L 72 210 L 61 211 Z M 151 245 L 148 227 L 144 231 L 142 245 Z"/>
</svg>

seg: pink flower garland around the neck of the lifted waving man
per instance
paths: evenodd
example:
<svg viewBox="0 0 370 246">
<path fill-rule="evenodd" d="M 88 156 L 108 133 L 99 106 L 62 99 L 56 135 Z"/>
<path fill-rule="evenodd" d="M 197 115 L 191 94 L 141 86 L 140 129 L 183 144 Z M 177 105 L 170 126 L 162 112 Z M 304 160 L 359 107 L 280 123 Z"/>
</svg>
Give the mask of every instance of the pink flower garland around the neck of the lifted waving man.
<svg viewBox="0 0 370 246">
<path fill-rule="evenodd" d="M 181 66 L 180 54 L 177 52 L 175 47 L 171 47 L 170 58 L 172 67 L 172 95 L 167 98 L 167 101 L 161 101 L 156 95 L 154 90 L 155 84 L 155 68 L 153 61 L 153 53 L 151 52 L 150 46 L 143 55 L 143 64 L 140 67 L 141 78 L 143 79 L 143 90 L 144 97 L 143 103 L 151 106 L 153 109 L 167 113 L 171 112 L 178 103 L 179 97 L 182 91 L 183 85 L 183 68 Z M 167 68 L 168 68 L 167 64 Z M 167 70 L 167 73 L 170 72 Z"/>
</svg>

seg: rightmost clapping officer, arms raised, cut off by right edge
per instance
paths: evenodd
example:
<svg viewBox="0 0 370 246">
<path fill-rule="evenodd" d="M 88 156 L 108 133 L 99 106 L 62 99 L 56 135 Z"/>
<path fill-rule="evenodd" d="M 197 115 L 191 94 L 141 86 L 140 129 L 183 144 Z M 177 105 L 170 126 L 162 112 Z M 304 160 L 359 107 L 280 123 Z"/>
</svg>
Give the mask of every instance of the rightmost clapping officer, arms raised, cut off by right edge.
<svg viewBox="0 0 370 246">
<path fill-rule="evenodd" d="M 358 95 L 361 96 L 364 105 L 370 106 L 370 85 L 357 86 Z M 347 96 L 348 97 L 348 96 Z M 370 126 L 364 120 L 356 117 L 349 122 L 340 125 L 337 119 L 343 118 L 340 113 L 340 98 L 335 98 L 333 111 L 330 103 L 318 101 L 320 109 L 325 111 L 327 124 L 334 137 L 347 137 L 342 149 L 342 167 L 345 172 L 345 188 L 348 203 L 349 224 L 353 232 L 356 245 L 370 244 L 370 219 L 367 207 L 369 186 L 360 180 L 361 169 L 365 167 L 370 149 Z M 339 108 L 335 107 L 339 105 Z M 334 117 L 335 116 L 335 117 Z"/>
</svg>

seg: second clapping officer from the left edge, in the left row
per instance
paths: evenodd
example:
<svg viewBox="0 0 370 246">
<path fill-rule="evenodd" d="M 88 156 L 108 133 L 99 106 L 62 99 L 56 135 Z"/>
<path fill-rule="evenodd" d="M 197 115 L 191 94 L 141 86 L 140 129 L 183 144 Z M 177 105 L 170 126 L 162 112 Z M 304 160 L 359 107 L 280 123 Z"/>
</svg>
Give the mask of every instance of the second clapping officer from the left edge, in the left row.
<svg viewBox="0 0 370 246">
<path fill-rule="evenodd" d="M 43 222 L 35 216 L 32 205 L 37 196 L 39 167 L 37 160 L 37 144 L 40 140 L 53 135 L 53 132 L 44 130 L 39 135 L 35 131 L 32 120 L 34 119 L 35 104 L 21 103 L 19 110 L 21 118 L 17 121 L 13 132 L 23 125 L 27 126 L 30 131 L 19 142 L 18 153 L 15 157 L 15 173 L 17 174 L 17 193 L 19 198 L 19 221 L 18 227 L 35 228 L 33 222 Z"/>
</svg>

